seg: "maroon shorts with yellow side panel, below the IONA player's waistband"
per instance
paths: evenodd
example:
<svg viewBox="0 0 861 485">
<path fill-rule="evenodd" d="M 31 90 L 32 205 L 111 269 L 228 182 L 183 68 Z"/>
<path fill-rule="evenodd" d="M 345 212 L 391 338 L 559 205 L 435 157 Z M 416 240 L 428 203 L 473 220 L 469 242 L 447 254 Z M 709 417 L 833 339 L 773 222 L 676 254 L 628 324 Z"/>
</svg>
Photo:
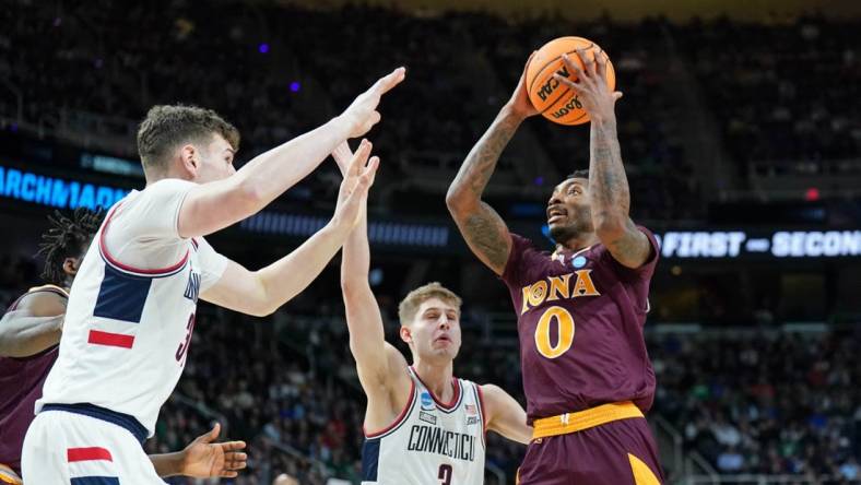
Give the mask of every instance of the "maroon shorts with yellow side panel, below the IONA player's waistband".
<svg viewBox="0 0 861 485">
<path fill-rule="evenodd" d="M 644 418 L 614 421 L 567 435 L 533 439 L 520 485 L 659 485 L 658 447 Z"/>
</svg>

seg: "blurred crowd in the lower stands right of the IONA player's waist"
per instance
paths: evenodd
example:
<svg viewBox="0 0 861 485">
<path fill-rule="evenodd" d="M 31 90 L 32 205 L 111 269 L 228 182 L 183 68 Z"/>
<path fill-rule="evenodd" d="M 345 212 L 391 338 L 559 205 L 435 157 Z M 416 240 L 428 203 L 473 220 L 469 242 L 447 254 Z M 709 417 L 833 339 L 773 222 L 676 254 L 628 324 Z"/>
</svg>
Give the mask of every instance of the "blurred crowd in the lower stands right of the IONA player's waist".
<svg viewBox="0 0 861 485">
<path fill-rule="evenodd" d="M 858 483 L 861 333 L 654 336 L 653 412 L 720 473 Z"/>
</svg>

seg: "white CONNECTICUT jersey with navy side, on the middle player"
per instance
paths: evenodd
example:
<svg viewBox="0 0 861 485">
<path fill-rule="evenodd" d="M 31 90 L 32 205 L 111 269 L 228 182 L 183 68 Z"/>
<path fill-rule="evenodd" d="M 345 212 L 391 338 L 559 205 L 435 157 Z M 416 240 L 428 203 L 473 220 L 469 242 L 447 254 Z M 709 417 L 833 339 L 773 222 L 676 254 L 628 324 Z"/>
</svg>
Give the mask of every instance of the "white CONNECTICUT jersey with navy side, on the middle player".
<svg viewBox="0 0 861 485">
<path fill-rule="evenodd" d="M 388 428 L 365 436 L 363 484 L 481 485 L 485 417 L 481 390 L 455 379 L 455 398 L 437 401 L 410 367 L 412 395 Z"/>
</svg>

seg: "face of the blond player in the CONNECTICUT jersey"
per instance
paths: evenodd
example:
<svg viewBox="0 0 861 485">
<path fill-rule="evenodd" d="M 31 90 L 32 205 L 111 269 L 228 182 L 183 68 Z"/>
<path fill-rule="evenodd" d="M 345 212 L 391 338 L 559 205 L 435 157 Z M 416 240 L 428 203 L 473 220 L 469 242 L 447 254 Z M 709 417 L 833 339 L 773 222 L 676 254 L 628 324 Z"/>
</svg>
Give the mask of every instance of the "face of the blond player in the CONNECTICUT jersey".
<svg viewBox="0 0 861 485">
<path fill-rule="evenodd" d="M 460 309 L 429 298 L 418 306 L 409 334 L 421 358 L 452 360 L 460 351 Z"/>
</svg>

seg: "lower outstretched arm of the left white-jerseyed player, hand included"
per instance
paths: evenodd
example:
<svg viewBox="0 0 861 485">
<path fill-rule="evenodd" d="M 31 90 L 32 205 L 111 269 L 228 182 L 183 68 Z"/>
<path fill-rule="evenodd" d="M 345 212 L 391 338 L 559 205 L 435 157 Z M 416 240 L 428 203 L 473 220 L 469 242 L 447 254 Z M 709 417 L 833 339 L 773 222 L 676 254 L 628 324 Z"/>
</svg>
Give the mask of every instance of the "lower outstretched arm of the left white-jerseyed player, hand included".
<svg viewBox="0 0 861 485">
<path fill-rule="evenodd" d="M 358 223 L 363 198 L 374 182 L 376 157 L 368 163 L 370 144 L 363 144 L 341 182 L 334 216 L 293 252 L 258 271 L 229 261 L 219 281 L 200 297 L 215 305 L 253 316 L 266 316 L 305 289 L 341 249 Z"/>
</svg>

